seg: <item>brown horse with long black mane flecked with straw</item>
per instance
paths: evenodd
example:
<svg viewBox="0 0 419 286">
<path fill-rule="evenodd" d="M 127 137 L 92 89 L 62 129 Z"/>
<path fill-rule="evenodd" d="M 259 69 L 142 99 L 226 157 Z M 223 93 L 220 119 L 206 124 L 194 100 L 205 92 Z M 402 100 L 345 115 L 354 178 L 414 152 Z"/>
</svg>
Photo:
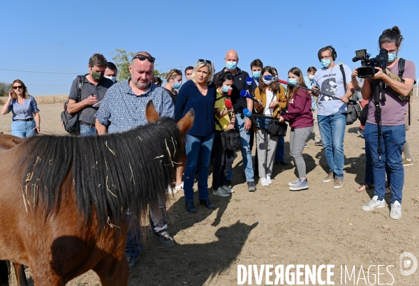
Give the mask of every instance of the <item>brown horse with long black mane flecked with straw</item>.
<svg viewBox="0 0 419 286">
<path fill-rule="evenodd" d="M 0 151 L 0 285 L 6 261 L 29 265 L 37 286 L 90 269 L 102 285 L 127 285 L 126 212 L 140 227 L 167 195 L 193 110 L 176 124 L 150 101 L 146 118 L 125 133 L 42 135 Z"/>
</svg>

